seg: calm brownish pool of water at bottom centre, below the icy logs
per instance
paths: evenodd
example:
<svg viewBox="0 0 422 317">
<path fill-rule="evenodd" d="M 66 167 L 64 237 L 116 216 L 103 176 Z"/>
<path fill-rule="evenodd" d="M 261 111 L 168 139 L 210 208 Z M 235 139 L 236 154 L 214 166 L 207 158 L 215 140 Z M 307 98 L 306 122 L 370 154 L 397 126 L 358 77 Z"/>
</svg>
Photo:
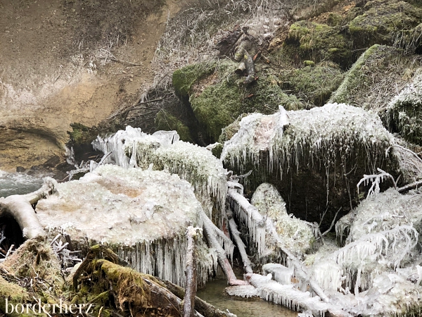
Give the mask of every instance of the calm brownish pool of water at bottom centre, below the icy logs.
<svg viewBox="0 0 422 317">
<path fill-rule="evenodd" d="M 238 317 L 298 316 L 296 311 L 290 311 L 284 306 L 265 302 L 260 298 L 242 299 L 240 297 L 230 297 L 224 292 L 226 287 L 226 278 L 215 278 L 208 281 L 207 286 L 203 290 L 198 290 L 197 296 L 222 311 L 228 309 L 231 313 L 236 313 Z"/>
</svg>

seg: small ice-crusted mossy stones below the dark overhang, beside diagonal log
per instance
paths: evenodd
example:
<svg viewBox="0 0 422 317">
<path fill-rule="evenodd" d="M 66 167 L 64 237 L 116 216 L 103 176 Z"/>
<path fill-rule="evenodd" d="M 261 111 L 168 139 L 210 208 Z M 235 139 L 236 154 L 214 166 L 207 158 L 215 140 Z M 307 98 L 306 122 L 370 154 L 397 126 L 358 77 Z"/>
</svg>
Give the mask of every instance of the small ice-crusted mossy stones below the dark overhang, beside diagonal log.
<svg viewBox="0 0 422 317">
<path fill-rule="evenodd" d="M 293 254 L 303 254 L 312 247 L 314 235 L 309 225 L 288 215 L 286 203 L 274 185 L 268 183 L 260 185 L 250 202 L 257 207 L 265 220 L 269 218 L 274 223 L 283 247 Z M 265 239 L 267 257 L 274 259 L 279 256 L 278 242 L 269 241 L 271 235 L 266 235 Z"/>
</svg>

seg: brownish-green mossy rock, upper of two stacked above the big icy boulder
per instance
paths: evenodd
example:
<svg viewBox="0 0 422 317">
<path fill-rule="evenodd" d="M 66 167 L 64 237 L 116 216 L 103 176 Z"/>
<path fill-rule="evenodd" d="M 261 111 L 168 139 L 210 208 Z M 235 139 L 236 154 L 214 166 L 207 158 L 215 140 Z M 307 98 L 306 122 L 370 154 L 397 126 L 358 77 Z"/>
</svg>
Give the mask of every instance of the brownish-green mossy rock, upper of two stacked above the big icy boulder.
<svg viewBox="0 0 422 317">
<path fill-rule="evenodd" d="M 294 59 L 334 61 L 342 66 L 351 63 L 352 42 L 340 29 L 326 24 L 299 21 L 290 26 L 283 44 Z"/>
</svg>

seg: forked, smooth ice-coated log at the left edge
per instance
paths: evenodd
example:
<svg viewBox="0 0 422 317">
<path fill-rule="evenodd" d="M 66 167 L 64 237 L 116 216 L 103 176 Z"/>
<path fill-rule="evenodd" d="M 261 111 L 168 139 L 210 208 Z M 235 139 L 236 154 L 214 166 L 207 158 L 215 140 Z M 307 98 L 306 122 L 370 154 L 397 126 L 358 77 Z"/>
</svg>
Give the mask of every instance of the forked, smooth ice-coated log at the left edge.
<svg viewBox="0 0 422 317">
<path fill-rule="evenodd" d="M 35 192 L 25 195 L 12 195 L 6 198 L 1 197 L 0 216 L 6 214 L 12 216 L 18 223 L 20 230 L 22 230 L 25 239 L 44 237 L 44 228 L 39 223 L 32 205 L 36 204 L 39 199 L 46 198 L 49 194 L 52 194 L 56 187 L 56 180 L 44 178 L 44 185 Z"/>
</svg>

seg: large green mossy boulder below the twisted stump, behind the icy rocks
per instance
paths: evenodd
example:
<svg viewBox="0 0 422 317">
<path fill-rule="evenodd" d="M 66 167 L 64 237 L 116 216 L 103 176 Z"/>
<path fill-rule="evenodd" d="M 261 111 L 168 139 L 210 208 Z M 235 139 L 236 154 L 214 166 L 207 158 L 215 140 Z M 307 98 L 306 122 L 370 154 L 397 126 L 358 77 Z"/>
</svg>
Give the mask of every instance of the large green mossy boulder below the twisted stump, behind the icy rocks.
<svg viewBox="0 0 422 317">
<path fill-rule="evenodd" d="M 186 92 L 196 119 L 212 142 L 241 113 L 274 113 L 279 105 L 289 110 L 304 108 L 297 97 L 283 92 L 274 75 L 262 74 L 259 80 L 244 85 L 243 77 L 234 73 L 237 66 L 233 61 L 223 60 L 214 73 L 199 71 L 195 79 L 189 75 L 182 84 L 174 78 L 180 78 L 181 73 L 192 74 L 193 69 L 203 69 L 203 66 L 187 66 L 188 70 L 181 68 L 173 75 L 174 85 L 179 85 L 175 89 Z"/>
</svg>

